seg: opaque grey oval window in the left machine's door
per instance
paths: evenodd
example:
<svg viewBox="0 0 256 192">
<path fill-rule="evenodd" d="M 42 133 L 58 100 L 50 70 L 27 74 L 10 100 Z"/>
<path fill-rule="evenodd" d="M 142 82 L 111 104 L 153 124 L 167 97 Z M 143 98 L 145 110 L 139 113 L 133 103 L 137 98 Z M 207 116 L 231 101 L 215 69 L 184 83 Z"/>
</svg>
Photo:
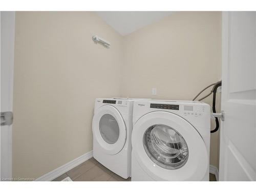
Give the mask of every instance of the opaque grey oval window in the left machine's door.
<svg viewBox="0 0 256 192">
<path fill-rule="evenodd" d="M 104 114 L 100 118 L 99 131 L 105 142 L 114 144 L 119 138 L 119 126 L 115 117 Z"/>
</svg>

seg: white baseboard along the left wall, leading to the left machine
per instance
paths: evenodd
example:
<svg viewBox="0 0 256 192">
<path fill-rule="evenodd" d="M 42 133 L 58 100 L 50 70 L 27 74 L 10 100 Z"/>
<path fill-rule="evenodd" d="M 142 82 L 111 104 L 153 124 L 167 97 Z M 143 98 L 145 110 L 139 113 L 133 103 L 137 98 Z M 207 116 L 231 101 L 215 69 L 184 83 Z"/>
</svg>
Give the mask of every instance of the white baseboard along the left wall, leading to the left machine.
<svg viewBox="0 0 256 192">
<path fill-rule="evenodd" d="M 90 151 L 68 163 L 65 165 L 62 165 L 51 172 L 37 178 L 35 181 L 52 181 L 53 179 L 61 176 L 62 174 L 65 174 L 68 172 L 70 169 L 76 167 L 77 165 L 83 163 L 84 161 L 87 161 L 88 159 L 93 157 L 93 151 Z"/>
</svg>

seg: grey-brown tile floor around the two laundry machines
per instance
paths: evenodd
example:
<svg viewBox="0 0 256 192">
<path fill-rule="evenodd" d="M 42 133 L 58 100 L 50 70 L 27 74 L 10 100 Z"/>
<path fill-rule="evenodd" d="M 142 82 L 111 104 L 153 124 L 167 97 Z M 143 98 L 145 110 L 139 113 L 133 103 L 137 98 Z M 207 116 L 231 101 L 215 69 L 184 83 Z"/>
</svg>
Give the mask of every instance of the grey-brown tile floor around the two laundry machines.
<svg viewBox="0 0 256 192">
<path fill-rule="evenodd" d="M 131 181 L 131 178 L 123 179 L 116 175 L 94 158 L 81 163 L 53 181 L 61 181 L 66 177 L 70 177 L 72 181 Z M 210 181 L 216 181 L 215 175 L 210 174 Z"/>
</svg>

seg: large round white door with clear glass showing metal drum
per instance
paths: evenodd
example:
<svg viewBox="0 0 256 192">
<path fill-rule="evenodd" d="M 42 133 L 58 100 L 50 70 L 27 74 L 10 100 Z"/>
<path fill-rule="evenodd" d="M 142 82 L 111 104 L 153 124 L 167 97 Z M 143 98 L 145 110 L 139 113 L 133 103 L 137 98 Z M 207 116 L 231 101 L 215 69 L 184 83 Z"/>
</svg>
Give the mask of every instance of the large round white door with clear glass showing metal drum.
<svg viewBox="0 0 256 192">
<path fill-rule="evenodd" d="M 134 125 L 132 146 L 135 159 L 157 181 L 200 181 L 209 157 L 195 127 L 178 115 L 151 112 Z"/>
</svg>

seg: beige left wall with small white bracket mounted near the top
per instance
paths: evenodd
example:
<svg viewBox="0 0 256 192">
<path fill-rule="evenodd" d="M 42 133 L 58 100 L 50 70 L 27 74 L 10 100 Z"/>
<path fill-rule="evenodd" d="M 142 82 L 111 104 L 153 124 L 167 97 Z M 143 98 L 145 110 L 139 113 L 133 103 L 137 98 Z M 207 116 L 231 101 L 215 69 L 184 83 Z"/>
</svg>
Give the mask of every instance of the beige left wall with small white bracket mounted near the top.
<svg viewBox="0 0 256 192">
<path fill-rule="evenodd" d="M 122 37 L 93 12 L 16 12 L 15 27 L 13 177 L 38 178 L 92 150 L 95 98 L 120 95 Z"/>
</svg>

